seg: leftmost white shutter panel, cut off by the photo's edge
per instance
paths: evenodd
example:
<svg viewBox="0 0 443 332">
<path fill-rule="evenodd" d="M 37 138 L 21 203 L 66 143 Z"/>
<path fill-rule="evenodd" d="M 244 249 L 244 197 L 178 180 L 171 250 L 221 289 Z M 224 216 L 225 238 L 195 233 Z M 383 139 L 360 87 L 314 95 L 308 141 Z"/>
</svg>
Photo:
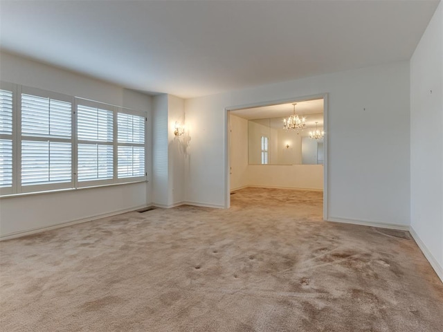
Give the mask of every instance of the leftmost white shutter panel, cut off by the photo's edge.
<svg viewBox="0 0 443 332">
<path fill-rule="evenodd" d="M 12 190 L 12 91 L 0 89 L 0 188 Z"/>
</svg>

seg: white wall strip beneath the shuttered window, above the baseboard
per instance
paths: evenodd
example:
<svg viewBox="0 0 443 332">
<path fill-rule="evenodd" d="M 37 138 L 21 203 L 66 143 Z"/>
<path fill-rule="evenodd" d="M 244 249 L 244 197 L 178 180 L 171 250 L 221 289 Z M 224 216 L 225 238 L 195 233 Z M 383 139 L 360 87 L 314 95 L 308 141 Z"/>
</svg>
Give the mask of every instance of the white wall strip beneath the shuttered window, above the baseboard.
<svg viewBox="0 0 443 332">
<path fill-rule="evenodd" d="M 0 199 L 1 237 L 146 206 L 146 184 Z"/>
</svg>

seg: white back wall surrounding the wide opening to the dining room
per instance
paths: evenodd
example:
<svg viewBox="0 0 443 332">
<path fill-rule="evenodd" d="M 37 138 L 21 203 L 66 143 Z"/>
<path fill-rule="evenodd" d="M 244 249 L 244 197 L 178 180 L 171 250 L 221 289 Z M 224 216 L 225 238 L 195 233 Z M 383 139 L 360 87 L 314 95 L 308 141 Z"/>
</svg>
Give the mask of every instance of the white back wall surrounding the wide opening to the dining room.
<svg viewBox="0 0 443 332">
<path fill-rule="evenodd" d="M 226 107 L 320 93 L 329 93 L 329 127 L 325 128 L 329 142 L 329 219 L 407 227 L 408 62 L 186 100 L 186 121 L 193 128 L 185 171 L 186 201 L 212 206 L 226 203 Z"/>
</svg>

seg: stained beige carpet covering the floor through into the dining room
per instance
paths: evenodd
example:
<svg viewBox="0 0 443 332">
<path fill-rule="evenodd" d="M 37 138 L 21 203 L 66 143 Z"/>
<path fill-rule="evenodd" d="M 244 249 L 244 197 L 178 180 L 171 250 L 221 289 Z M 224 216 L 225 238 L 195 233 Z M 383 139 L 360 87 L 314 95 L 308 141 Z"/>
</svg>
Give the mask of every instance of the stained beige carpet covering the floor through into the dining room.
<svg viewBox="0 0 443 332">
<path fill-rule="evenodd" d="M 131 212 L 3 241 L 1 331 L 443 331 L 408 232 L 321 220 L 322 194 Z"/>
</svg>

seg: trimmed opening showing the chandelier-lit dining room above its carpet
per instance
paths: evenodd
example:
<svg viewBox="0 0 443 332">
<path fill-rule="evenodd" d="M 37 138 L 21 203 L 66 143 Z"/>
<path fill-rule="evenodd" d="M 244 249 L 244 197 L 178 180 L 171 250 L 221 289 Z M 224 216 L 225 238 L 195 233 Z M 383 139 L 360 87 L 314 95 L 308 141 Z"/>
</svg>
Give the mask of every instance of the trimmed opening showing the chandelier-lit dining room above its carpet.
<svg viewBox="0 0 443 332">
<path fill-rule="evenodd" d="M 245 187 L 323 191 L 327 220 L 327 93 L 227 107 L 225 124 L 225 208 Z"/>
</svg>

